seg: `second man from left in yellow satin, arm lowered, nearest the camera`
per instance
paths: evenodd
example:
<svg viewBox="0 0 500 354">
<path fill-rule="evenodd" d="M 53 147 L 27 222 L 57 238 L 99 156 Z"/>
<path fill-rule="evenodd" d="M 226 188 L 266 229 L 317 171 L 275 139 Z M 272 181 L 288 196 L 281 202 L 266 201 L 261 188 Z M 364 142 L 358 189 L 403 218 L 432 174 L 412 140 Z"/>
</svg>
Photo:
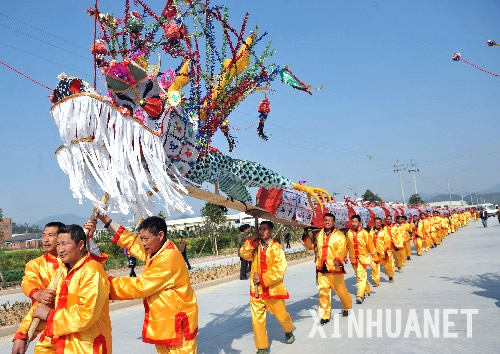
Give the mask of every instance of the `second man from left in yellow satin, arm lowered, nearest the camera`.
<svg viewBox="0 0 500 354">
<path fill-rule="evenodd" d="M 86 235 L 81 226 L 59 228 L 58 256 L 64 266 L 58 282 L 55 308 L 37 303 L 21 323 L 12 352 L 24 353 L 25 341 L 34 318 L 43 330 L 35 353 L 96 353 L 112 351 L 109 318 L 109 281 L 102 263 L 105 260 L 86 250 Z"/>
</svg>

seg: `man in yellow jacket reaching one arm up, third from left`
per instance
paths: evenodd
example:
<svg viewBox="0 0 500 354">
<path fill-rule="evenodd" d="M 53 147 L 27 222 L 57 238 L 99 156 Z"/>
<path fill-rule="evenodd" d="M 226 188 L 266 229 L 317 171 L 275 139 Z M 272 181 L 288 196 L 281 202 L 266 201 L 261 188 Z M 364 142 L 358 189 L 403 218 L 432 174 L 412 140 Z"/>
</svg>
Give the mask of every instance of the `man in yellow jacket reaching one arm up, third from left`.
<svg viewBox="0 0 500 354">
<path fill-rule="evenodd" d="M 99 215 L 113 242 L 146 262 L 135 278 L 110 277 L 110 299 L 143 299 L 146 312 L 142 341 L 155 344 L 158 353 L 196 353 L 198 301 L 181 252 L 167 239 L 167 224 L 151 216 L 139 225 L 139 234 L 127 231 L 106 215 Z"/>
</svg>

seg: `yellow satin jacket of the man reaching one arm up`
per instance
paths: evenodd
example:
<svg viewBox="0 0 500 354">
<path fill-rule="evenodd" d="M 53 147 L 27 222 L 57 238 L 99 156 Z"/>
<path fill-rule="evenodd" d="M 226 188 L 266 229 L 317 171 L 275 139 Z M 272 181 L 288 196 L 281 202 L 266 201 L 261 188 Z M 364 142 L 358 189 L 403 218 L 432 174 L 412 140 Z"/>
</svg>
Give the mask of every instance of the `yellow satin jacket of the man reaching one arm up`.
<svg viewBox="0 0 500 354">
<path fill-rule="evenodd" d="M 113 242 L 146 262 L 144 272 L 135 277 L 110 277 L 112 300 L 144 299 L 146 312 L 142 328 L 145 343 L 175 346 L 193 340 L 198 333 L 198 300 L 191 287 L 182 254 L 167 240 L 153 256 L 146 253 L 139 235 L 116 231 Z"/>
</svg>

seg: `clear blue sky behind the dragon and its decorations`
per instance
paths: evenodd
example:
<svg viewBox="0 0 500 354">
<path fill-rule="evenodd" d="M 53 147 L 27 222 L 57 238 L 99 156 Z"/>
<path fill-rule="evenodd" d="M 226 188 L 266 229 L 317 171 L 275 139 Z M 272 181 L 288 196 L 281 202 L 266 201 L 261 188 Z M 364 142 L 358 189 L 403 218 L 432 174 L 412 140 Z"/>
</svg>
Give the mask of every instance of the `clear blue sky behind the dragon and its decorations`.
<svg viewBox="0 0 500 354">
<path fill-rule="evenodd" d="M 92 3 L 4 4 L 0 60 L 50 87 L 62 71 L 92 81 L 93 22 L 85 12 Z M 119 16 L 121 3 L 99 1 L 101 11 Z M 149 3 L 161 11 L 163 2 Z M 234 26 L 248 11 L 249 28 L 258 23 L 269 32 L 274 62 L 324 87 L 309 96 L 276 81 L 266 123 L 269 141 L 261 141 L 255 128 L 233 130 L 239 144 L 232 156 L 340 195 L 350 194 L 351 185 L 358 194 L 369 188 L 395 201 L 401 199 L 396 160 L 419 163 L 417 183 L 425 193 L 446 193 L 448 178 L 453 192 L 499 183 L 500 78 L 450 58 L 460 51 L 465 59 L 500 72 L 500 48 L 485 44 L 500 42 L 500 2 L 224 3 Z M 72 198 L 55 159 L 60 140 L 49 114 L 50 92 L 4 67 L 0 80 L 0 208 L 19 222 L 87 215 L 91 207 Z M 247 99 L 231 124 L 255 124 L 262 98 Z M 227 151 L 222 135 L 214 145 Z M 408 198 L 413 180 L 403 173 Z M 202 203 L 190 201 L 198 212 Z"/>
</svg>

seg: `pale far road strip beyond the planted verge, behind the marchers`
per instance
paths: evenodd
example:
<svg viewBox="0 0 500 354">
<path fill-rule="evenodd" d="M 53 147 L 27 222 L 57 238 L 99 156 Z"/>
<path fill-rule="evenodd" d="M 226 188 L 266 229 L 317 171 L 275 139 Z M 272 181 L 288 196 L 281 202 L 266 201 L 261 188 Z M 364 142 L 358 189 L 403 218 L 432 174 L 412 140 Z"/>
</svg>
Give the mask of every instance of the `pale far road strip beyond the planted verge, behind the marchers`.
<svg viewBox="0 0 500 354">
<path fill-rule="evenodd" d="M 293 244 L 291 248 L 285 250 L 286 253 L 294 253 L 304 250 L 304 247 L 301 244 Z M 204 258 L 195 258 L 190 260 L 192 269 L 191 272 L 194 272 L 198 269 L 203 268 L 214 268 L 227 266 L 235 263 L 239 263 L 240 258 L 237 254 L 229 255 L 229 256 L 220 256 L 220 257 L 204 257 Z M 136 273 L 140 274 L 143 270 L 143 267 L 137 267 Z M 109 272 L 113 276 L 128 276 L 129 271 L 116 271 L 112 270 Z M 16 301 L 28 301 L 28 298 L 22 293 L 21 288 L 19 291 L 13 294 L 1 295 L 0 292 L 0 305 L 10 302 L 11 304 Z"/>
</svg>

